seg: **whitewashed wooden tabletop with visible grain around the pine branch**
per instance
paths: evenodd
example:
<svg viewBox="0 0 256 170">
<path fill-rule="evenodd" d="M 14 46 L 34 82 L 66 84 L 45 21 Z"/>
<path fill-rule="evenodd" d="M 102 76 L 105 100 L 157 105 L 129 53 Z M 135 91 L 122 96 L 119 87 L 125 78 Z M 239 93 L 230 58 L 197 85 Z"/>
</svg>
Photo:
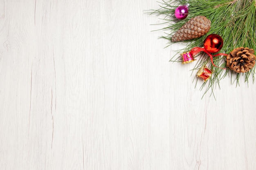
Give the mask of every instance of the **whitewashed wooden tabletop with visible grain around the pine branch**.
<svg viewBox="0 0 256 170">
<path fill-rule="evenodd" d="M 256 170 L 256 84 L 201 99 L 157 5 L 0 0 L 1 170 Z"/>
</svg>

